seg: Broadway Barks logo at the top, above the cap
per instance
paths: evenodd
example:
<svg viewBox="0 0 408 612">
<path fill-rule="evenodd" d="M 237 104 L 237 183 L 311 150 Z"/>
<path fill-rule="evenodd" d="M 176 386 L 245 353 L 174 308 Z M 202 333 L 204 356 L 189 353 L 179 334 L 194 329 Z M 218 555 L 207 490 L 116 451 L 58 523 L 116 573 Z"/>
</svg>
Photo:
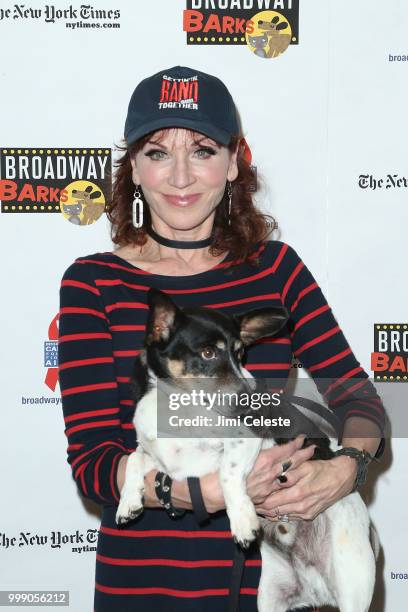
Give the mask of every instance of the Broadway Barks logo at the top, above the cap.
<svg viewBox="0 0 408 612">
<path fill-rule="evenodd" d="M 187 0 L 188 45 L 247 45 L 258 57 L 278 57 L 299 42 L 299 0 Z"/>
</svg>

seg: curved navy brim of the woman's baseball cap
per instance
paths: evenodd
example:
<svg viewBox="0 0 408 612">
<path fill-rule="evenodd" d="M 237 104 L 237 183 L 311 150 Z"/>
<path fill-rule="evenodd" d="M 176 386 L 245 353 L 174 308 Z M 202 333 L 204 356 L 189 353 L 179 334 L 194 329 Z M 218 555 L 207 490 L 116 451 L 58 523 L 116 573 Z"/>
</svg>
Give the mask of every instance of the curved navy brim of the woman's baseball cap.
<svg viewBox="0 0 408 612">
<path fill-rule="evenodd" d="M 171 127 L 183 127 L 195 132 L 200 132 L 209 138 L 212 138 L 219 144 L 228 146 L 231 141 L 231 134 L 225 130 L 218 128 L 211 123 L 206 121 L 199 121 L 194 119 L 186 119 L 185 117 L 163 117 L 162 119 L 155 119 L 150 123 L 144 123 L 138 128 L 131 130 L 125 137 L 128 145 L 133 144 L 136 140 L 139 140 L 142 136 L 146 136 L 150 132 L 155 132 L 163 128 Z"/>
</svg>

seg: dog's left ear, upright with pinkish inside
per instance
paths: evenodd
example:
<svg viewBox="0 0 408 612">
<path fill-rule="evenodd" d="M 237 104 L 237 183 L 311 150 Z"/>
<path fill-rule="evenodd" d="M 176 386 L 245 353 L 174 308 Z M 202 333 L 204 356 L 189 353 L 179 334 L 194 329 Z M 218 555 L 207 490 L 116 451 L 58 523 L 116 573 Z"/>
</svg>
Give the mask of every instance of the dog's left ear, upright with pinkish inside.
<svg viewBox="0 0 408 612">
<path fill-rule="evenodd" d="M 150 311 L 146 325 L 146 344 L 166 342 L 181 318 L 181 311 L 173 300 L 159 289 L 147 294 Z"/>
</svg>

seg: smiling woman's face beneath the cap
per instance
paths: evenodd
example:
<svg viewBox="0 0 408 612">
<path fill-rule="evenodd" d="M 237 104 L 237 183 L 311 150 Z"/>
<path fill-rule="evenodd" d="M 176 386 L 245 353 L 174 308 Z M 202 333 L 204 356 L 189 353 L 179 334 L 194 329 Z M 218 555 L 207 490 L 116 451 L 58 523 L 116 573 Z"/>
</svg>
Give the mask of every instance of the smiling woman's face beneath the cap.
<svg viewBox="0 0 408 612">
<path fill-rule="evenodd" d="M 155 132 L 131 162 L 152 220 L 179 230 L 194 229 L 213 215 L 227 180 L 238 176 L 236 152 L 183 128 Z"/>
</svg>

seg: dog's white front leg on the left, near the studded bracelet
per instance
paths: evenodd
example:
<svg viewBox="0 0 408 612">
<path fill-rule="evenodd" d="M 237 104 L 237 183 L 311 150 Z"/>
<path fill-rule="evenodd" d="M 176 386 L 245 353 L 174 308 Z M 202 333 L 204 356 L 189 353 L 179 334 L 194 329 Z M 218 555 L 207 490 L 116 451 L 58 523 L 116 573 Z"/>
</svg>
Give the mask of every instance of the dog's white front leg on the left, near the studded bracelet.
<svg viewBox="0 0 408 612">
<path fill-rule="evenodd" d="M 120 503 L 116 512 L 116 523 L 128 523 L 143 512 L 144 475 L 146 473 L 143 448 L 129 455 L 126 465 L 125 482 L 120 495 Z"/>
</svg>

